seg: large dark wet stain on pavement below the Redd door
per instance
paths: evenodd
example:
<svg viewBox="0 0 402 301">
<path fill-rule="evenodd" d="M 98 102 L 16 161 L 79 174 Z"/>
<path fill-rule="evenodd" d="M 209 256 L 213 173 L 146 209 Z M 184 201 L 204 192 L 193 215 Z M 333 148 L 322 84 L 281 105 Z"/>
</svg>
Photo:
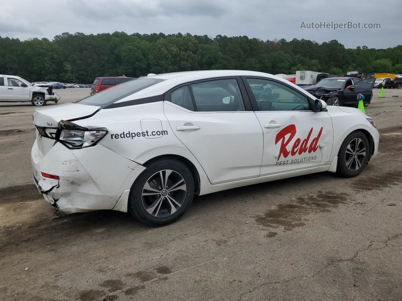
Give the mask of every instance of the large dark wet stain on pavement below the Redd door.
<svg viewBox="0 0 402 301">
<path fill-rule="evenodd" d="M 307 214 L 314 212 L 330 212 L 330 209 L 346 203 L 347 193 L 333 193 L 319 191 L 317 195 L 308 195 L 292 199 L 291 203 L 276 205 L 268 209 L 263 216 L 257 216 L 255 221 L 268 228 L 283 228 L 283 231 L 291 231 L 295 228 L 306 226 Z M 276 233 L 276 234 L 275 234 Z M 267 237 L 275 237 L 277 232 L 269 232 Z"/>
</svg>

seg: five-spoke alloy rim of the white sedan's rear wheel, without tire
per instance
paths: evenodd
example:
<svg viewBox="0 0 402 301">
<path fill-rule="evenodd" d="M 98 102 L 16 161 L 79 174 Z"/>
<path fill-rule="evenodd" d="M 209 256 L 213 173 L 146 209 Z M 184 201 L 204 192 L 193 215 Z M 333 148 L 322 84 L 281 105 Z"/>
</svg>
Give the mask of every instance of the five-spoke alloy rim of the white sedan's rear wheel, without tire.
<svg viewBox="0 0 402 301">
<path fill-rule="evenodd" d="M 148 214 L 164 218 L 183 205 L 187 187 L 182 175 L 171 169 L 154 173 L 142 189 L 142 205 Z"/>
</svg>

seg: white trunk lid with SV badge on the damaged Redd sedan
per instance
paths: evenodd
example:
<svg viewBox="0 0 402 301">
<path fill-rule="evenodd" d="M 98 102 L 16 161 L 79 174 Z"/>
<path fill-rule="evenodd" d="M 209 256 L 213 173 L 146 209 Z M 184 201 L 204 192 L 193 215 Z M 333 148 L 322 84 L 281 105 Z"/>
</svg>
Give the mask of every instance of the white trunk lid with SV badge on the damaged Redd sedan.
<svg viewBox="0 0 402 301">
<path fill-rule="evenodd" d="M 98 106 L 69 103 L 53 108 L 36 109 L 33 113 L 33 123 L 37 127 L 36 138 L 40 153 L 44 156 L 53 147 L 60 120 L 82 118 L 94 114 L 99 108 Z"/>
</svg>

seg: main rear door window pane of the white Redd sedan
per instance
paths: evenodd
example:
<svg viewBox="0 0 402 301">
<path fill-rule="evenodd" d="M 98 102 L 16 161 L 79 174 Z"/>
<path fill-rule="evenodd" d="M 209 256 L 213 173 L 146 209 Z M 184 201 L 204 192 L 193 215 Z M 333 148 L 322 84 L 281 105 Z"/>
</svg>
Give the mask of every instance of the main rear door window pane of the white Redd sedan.
<svg viewBox="0 0 402 301">
<path fill-rule="evenodd" d="M 199 112 L 244 111 L 243 98 L 236 79 L 204 81 L 191 85 Z"/>
</svg>

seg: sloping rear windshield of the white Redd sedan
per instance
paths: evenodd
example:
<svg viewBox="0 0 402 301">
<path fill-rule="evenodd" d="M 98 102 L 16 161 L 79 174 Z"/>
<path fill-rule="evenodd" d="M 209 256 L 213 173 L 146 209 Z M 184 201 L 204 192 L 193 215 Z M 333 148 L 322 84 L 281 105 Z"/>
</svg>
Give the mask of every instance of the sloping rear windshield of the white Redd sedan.
<svg viewBox="0 0 402 301">
<path fill-rule="evenodd" d="M 131 81 L 126 81 L 125 83 L 121 83 L 119 85 L 115 85 L 113 87 L 92 94 L 86 98 L 83 98 L 82 100 L 78 100 L 78 102 L 76 103 L 86 104 L 89 106 L 100 106 L 101 108 L 105 108 L 106 106 L 109 106 L 109 104 L 113 104 L 118 100 L 121 100 L 131 94 L 134 94 L 152 85 L 160 83 L 161 81 L 164 81 L 164 79 L 159 78 L 133 79 Z"/>
</svg>

